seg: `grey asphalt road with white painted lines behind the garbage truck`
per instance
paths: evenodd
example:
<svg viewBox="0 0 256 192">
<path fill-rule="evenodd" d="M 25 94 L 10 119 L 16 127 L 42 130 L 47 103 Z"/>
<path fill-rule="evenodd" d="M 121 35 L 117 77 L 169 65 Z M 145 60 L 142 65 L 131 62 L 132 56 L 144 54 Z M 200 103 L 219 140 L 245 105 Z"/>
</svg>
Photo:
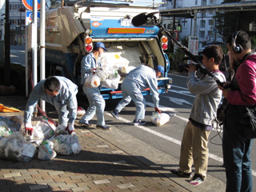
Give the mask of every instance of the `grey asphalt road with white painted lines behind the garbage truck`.
<svg viewBox="0 0 256 192">
<path fill-rule="evenodd" d="M 13 47 L 11 47 L 12 49 Z M 22 47 L 14 47 L 11 54 L 21 54 Z M 24 52 L 25 53 L 25 52 Z M 24 54 L 23 53 L 23 54 Z M 11 58 L 13 59 L 13 58 Z M 20 59 L 22 61 L 22 59 Z M 25 60 L 24 60 L 25 61 Z M 170 121 L 164 126 L 154 126 L 150 122 L 150 115 L 154 111 L 152 99 L 146 96 L 146 125 L 130 126 L 129 122 L 134 120 L 134 104 L 130 103 L 120 114 L 120 119 L 112 118 L 110 110 L 113 110 L 118 101 L 106 101 L 106 124 L 112 126 L 109 132 L 95 132 L 98 136 L 114 143 L 116 146 L 126 147 L 125 151 L 134 155 L 142 155 L 166 170 L 170 174 L 170 169 L 178 167 L 179 150 L 181 145 L 182 133 L 186 125 L 187 118 L 194 100 L 194 95 L 186 88 L 186 77 L 182 75 L 170 74 L 174 79 L 173 86 L 168 94 L 160 96 L 160 108 L 162 112 L 171 115 Z M 79 98 L 82 99 L 82 98 Z M 82 103 L 82 100 L 78 100 Z M 86 108 L 86 106 L 84 106 Z M 91 121 L 95 123 L 95 118 Z M 94 132 L 94 130 L 91 130 Z M 208 166 L 208 178 L 205 183 L 197 186 L 198 190 L 206 191 L 225 191 L 226 175 L 222 167 L 222 133 L 213 130 L 210 134 L 210 158 Z M 255 147 L 255 143 L 254 146 Z M 254 174 L 254 183 L 256 183 L 256 165 L 255 153 L 252 150 L 252 169 Z M 187 186 L 188 182 L 184 178 L 175 178 L 174 180 Z M 187 186 L 190 188 L 190 186 Z M 194 188 L 193 188 L 194 189 Z M 256 187 L 254 186 L 254 191 Z"/>
</svg>

